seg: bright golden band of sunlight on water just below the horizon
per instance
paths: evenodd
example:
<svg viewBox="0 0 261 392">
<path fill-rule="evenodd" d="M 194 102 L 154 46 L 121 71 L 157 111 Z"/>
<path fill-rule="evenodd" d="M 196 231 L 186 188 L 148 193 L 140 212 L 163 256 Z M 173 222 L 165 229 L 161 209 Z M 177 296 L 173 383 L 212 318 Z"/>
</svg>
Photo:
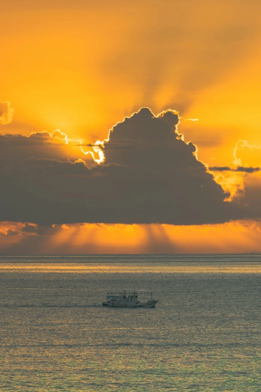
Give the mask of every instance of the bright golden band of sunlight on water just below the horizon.
<svg viewBox="0 0 261 392">
<path fill-rule="evenodd" d="M 261 263 L 0 263 L 0 272 L 261 273 Z"/>
</svg>

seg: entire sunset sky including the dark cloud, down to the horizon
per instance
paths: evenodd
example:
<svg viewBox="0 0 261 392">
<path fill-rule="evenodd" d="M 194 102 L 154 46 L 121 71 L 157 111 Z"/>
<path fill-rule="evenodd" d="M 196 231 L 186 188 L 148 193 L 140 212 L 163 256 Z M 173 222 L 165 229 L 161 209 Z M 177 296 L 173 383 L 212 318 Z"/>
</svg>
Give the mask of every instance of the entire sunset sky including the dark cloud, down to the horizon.
<svg viewBox="0 0 261 392">
<path fill-rule="evenodd" d="M 260 12 L 5 2 L 0 254 L 261 252 Z"/>
</svg>

